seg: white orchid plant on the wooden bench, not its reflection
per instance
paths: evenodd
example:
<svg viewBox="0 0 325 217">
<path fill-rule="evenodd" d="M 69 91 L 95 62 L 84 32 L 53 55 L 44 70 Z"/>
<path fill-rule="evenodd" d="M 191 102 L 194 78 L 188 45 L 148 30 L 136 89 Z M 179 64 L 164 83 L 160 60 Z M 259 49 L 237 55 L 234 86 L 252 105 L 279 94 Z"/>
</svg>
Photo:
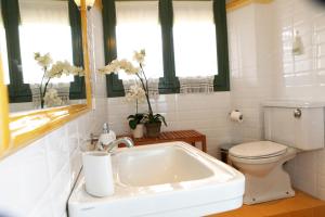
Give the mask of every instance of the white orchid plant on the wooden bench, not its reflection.
<svg viewBox="0 0 325 217">
<path fill-rule="evenodd" d="M 139 80 L 139 85 L 131 86 L 130 90 L 127 92 L 128 98 L 141 98 L 141 95 L 146 100 L 148 112 L 143 115 L 144 123 L 164 123 L 167 126 L 165 117 L 160 114 L 154 114 L 152 104 L 150 101 L 150 90 L 148 90 L 148 80 L 144 73 L 144 61 L 145 61 L 145 50 L 134 51 L 133 61 L 136 62 L 138 66 L 134 66 L 132 62 L 122 59 L 114 60 L 108 65 L 101 68 L 99 72 L 101 74 L 112 74 L 125 72 L 127 75 L 135 76 Z M 140 99 L 139 98 L 139 99 Z M 136 100 L 139 100 L 136 99 Z M 136 103 L 136 114 L 138 114 L 138 103 Z M 135 114 L 135 115 L 136 115 Z M 135 116 L 134 116 L 135 117 Z"/>
</svg>

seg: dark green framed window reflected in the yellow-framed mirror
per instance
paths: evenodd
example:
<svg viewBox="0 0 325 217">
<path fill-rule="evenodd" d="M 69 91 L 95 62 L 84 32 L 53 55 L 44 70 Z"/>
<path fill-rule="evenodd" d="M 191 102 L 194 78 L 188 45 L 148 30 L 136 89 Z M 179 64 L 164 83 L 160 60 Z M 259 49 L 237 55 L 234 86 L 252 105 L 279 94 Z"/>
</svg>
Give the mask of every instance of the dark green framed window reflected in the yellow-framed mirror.
<svg viewBox="0 0 325 217">
<path fill-rule="evenodd" d="M 67 60 L 83 65 L 81 17 L 74 0 L 0 0 L 4 26 L 0 31 L 1 54 L 8 49 L 8 85 L 11 103 L 31 102 L 30 84 L 39 84 L 41 68 L 34 60 L 35 52 L 50 52 L 54 61 Z M 1 27 L 0 27 L 1 30 Z M 57 46 L 60 44 L 60 46 Z M 27 76 L 28 74 L 28 76 Z M 58 80 L 53 79 L 54 82 Z M 84 78 L 61 78 L 69 81 L 69 99 L 84 99 Z"/>
</svg>

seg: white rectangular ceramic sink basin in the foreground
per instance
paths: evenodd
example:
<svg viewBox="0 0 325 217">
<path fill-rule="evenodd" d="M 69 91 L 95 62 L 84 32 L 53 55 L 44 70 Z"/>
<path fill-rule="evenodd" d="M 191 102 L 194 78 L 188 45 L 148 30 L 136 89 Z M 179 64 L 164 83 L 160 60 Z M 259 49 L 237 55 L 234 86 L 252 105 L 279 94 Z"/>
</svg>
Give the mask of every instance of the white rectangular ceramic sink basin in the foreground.
<svg viewBox="0 0 325 217">
<path fill-rule="evenodd" d="M 93 197 L 81 174 L 70 217 L 204 216 L 243 204 L 244 176 L 184 142 L 119 149 L 113 156 L 115 194 Z"/>
</svg>

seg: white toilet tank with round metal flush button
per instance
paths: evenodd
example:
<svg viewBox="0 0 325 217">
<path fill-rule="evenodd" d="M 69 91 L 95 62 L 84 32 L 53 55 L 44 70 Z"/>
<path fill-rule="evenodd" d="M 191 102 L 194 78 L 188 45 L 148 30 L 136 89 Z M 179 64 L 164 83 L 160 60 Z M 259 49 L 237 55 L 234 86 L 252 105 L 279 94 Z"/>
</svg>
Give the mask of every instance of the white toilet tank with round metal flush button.
<svg viewBox="0 0 325 217">
<path fill-rule="evenodd" d="M 266 140 L 304 151 L 324 148 L 325 102 L 271 101 L 263 107 Z"/>
</svg>

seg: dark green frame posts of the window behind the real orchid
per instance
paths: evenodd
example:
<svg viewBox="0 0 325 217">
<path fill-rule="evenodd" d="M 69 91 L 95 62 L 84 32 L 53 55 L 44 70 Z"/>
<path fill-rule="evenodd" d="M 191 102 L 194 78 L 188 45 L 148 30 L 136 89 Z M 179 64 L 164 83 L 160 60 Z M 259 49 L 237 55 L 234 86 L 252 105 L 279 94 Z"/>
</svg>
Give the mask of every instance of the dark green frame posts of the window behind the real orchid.
<svg viewBox="0 0 325 217">
<path fill-rule="evenodd" d="M 116 0 L 103 0 L 103 28 L 105 63 L 117 58 L 116 49 Z M 159 1 L 159 21 L 161 26 L 164 77 L 159 78 L 159 93 L 170 94 L 180 92 L 180 80 L 176 76 L 173 52 L 173 9 L 172 0 Z M 217 37 L 218 75 L 213 78 L 213 91 L 230 91 L 229 48 L 226 28 L 225 0 L 213 0 L 213 20 Z M 122 80 L 116 74 L 106 75 L 108 98 L 123 97 Z"/>
</svg>

